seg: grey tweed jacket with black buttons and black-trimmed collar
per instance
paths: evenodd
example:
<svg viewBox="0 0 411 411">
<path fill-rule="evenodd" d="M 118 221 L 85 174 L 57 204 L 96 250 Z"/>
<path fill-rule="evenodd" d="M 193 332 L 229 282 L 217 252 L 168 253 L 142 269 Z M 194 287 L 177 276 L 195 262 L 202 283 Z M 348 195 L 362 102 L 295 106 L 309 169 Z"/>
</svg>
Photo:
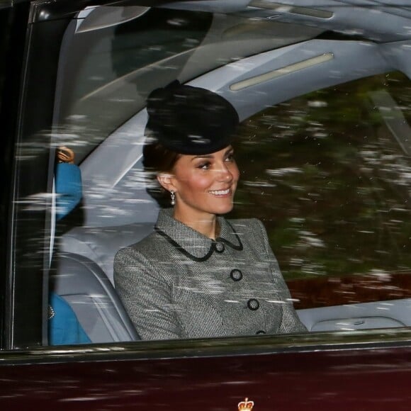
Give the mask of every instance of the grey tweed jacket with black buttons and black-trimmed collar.
<svg viewBox="0 0 411 411">
<path fill-rule="evenodd" d="M 142 339 L 305 332 L 257 219 L 218 217 L 210 240 L 161 210 L 154 232 L 120 249 L 114 281 Z"/>
</svg>

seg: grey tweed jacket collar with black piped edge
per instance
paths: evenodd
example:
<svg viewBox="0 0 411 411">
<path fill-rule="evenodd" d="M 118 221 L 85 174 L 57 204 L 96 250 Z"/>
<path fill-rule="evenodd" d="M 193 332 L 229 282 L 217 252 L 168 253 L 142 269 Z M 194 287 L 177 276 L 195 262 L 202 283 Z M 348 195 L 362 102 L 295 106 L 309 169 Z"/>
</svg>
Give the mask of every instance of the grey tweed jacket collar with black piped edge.
<svg viewBox="0 0 411 411">
<path fill-rule="evenodd" d="M 166 208 L 159 211 L 154 230 L 162 235 L 176 249 L 194 261 L 205 261 L 214 252 L 219 252 L 219 243 L 223 243 L 238 251 L 242 250 L 242 242 L 234 227 L 223 217 L 218 217 L 220 236 L 212 240 L 188 225 L 172 217 L 173 209 Z"/>
</svg>

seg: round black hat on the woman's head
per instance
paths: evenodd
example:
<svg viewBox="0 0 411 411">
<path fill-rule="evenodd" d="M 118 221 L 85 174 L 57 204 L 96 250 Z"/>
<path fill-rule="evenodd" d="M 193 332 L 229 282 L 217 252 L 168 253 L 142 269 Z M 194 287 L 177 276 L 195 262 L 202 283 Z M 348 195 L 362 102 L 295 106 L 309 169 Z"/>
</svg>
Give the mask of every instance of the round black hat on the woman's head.
<svg viewBox="0 0 411 411">
<path fill-rule="evenodd" d="M 222 96 L 173 81 L 147 98 L 146 134 L 180 154 L 210 154 L 230 145 L 239 118 Z"/>
</svg>

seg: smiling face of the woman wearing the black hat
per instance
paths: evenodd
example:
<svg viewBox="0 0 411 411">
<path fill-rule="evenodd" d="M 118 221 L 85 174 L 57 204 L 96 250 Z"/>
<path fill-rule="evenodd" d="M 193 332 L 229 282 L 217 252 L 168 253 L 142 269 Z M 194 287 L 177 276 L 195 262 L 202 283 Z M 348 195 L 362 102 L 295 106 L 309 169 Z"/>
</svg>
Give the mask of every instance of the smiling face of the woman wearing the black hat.
<svg viewBox="0 0 411 411">
<path fill-rule="evenodd" d="M 231 146 L 213 154 L 181 155 L 170 176 L 176 195 L 174 215 L 201 220 L 232 210 L 240 176 Z M 164 186 L 164 184 L 163 184 Z"/>
</svg>

